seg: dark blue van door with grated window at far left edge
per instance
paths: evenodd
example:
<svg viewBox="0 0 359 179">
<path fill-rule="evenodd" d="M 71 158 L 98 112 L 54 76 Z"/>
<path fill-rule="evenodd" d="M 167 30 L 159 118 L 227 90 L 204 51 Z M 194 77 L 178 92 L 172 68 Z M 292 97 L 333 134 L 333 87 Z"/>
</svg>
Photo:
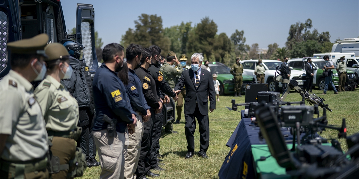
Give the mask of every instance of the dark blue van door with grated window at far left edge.
<svg viewBox="0 0 359 179">
<path fill-rule="evenodd" d="M 8 43 L 20 40 L 19 1 L 0 1 L 0 81 L 10 71 Z"/>
</svg>

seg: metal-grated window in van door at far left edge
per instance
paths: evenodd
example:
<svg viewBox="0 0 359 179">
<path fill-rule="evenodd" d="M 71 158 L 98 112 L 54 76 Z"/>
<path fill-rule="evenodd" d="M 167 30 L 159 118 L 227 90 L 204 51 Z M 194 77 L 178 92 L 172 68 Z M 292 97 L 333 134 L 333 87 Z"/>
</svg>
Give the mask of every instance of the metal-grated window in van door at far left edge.
<svg viewBox="0 0 359 179">
<path fill-rule="evenodd" d="M 5 69 L 8 63 L 8 15 L 0 11 L 0 72 Z"/>
</svg>

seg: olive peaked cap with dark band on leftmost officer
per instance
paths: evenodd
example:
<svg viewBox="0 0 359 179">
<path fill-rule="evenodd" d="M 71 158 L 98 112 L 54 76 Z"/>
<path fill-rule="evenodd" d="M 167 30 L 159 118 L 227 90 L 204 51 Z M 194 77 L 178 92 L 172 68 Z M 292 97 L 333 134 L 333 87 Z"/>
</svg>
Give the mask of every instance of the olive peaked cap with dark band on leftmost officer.
<svg viewBox="0 0 359 179">
<path fill-rule="evenodd" d="M 48 42 L 47 34 L 39 34 L 33 38 L 8 43 L 11 53 L 38 54 L 46 56 L 44 48 Z"/>
</svg>

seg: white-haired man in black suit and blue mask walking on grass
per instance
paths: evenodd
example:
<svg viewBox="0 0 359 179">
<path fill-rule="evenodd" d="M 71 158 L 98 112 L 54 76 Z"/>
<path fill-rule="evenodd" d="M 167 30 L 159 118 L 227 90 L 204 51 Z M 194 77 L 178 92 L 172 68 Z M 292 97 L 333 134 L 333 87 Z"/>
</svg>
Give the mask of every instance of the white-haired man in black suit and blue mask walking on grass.
<svg viewBox="0 0 359 179">
<path fill-rule="evenodd" d="M 214 83 L 211 72 L 201 69 L 203 56 L 195 53 L 191 57 L 191 69 L 182 72 L 181 78 L 174 87 L 176 93 L 180 92 L 183 87 L 186 88 L 185 98 L 185 134 L 187 139 L 186 159 L 191 158 L 195 151 L 195 139 L 193 134 L 196 130 L 197 118 L 200 131 L 200 150 L 198 154 L 202 158 L 208 158 L 206 152 L 209 146 L 209 120 L 208 120 L 208 96 L 209 109 L 213 112 L 216 108 Z"/>
</svg>

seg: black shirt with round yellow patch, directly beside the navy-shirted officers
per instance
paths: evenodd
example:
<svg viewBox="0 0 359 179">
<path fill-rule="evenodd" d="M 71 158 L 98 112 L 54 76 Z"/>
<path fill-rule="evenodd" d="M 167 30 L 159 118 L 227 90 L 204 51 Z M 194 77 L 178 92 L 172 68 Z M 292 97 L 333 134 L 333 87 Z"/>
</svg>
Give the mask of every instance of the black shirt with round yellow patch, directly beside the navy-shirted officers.
<svg viewBox="0 0 359 179">
<path fill-rule="evenodd" d="M 160 98 L 157 96 L 156 84 L 150 74 L 148 74 L 148 70 L 139 67 L 135 70 L 135 73 L 141 80 L 143 95 L 145 96 L 148 106 L 158 109 Z"/>
</svg>

